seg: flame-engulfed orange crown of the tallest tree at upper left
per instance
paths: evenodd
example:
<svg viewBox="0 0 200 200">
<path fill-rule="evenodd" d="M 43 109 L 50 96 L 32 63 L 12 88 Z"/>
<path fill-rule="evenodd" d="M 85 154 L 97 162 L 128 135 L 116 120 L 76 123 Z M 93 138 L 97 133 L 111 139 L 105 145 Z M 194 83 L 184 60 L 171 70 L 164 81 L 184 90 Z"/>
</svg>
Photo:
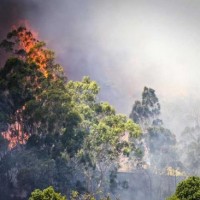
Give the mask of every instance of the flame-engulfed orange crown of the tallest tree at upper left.
<svg viewBox="0 0 200 200">
<path fill-rule="evenodd" d="M 47 50 L 45 43 L 36 38 L 37 33 L 27 30 L 26 27 L 14 28 L 0 46 L 29 64 L 35 63 L 39 71 L 47 77 L 48 62 L 53 60 L 53 52 Z"/>
</svg>

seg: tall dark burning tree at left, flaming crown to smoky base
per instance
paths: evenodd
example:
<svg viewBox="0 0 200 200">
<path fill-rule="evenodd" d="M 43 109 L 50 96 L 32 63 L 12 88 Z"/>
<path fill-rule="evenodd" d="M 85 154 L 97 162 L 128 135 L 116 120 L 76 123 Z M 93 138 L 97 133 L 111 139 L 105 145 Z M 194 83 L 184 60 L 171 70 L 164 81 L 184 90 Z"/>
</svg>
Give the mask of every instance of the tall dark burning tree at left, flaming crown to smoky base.
<svg viewBox="0 0 200 200">
<path fill-rule="evenodd" d="M 8 33 L 1 47 L 9 56 L 0 70 L 0 177 L 2 191 L 10 191 L 4 197 L 50 184 L 64 190 L 70 172 L 61 156 L 67 149 L 61 137 L 79 117 L 71 112 L 63 69 L 25 27 Z"/>
</svg>

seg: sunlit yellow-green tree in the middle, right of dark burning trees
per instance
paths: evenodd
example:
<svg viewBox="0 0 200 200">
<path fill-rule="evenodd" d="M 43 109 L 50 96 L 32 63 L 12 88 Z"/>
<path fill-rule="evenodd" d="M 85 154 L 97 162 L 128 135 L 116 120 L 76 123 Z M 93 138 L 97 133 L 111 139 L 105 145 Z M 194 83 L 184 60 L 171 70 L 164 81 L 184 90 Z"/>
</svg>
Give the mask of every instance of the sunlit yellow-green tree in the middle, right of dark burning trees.
<svg viewBox="0 0 200 200">
<path fill-rule="evenodd" d="M 85 135 L 77 154 L 78 167 L 82 166 L 87 178 L 87 189 L 95 192 L 102 186 L 105 188 L 106 177 L 118 167 L 120 155 L 135 150 L 134 142 L 141 130 L 132 120 L 116 114 L 108 103 L 97 102 L 99 87 L 88 77 L 83 78 L 82 82 L 70 81 L 67 90 L 75 111 L 81 116 L 79 130 Z M 122 137 L 126 133 L 129 140 L 124 141 Z"/>
</svg>

